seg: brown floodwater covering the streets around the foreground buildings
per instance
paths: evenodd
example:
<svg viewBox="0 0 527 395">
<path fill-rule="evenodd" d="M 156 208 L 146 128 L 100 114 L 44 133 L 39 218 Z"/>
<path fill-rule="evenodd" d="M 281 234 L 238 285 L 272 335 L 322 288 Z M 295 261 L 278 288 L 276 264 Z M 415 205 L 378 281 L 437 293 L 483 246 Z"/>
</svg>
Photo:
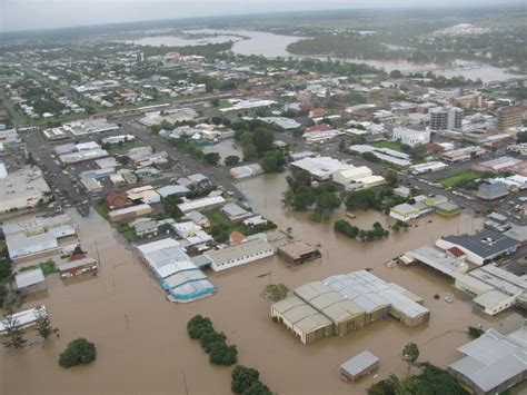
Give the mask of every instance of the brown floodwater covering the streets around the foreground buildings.
<svg viewBox="0 0 527 395">
<path fill-rule="evenodd" d="M 296 238 L 319 244 L 322 258 L 291 267 L 275 256 L 220 274 L 209 273 L 218 293 L 190 304 L 166 300 L 131 249 L 116 241 L 108 224 L 92 214 L 83 219 L 71 213 L 79 225 L 82 246 L 101 259 L 98 277 L 64 285 L 57 275 L 48 277 L 43 303 L 60 338 L 46 346 L 33 344 L 22 350 L 0 350 L 0 393 L 11 394 L 230 394 L 230 368 L 212 366 L 199 344 L 186 332 L 195 314 L 209 316 L 217 329 L 238 346 L 239 362 L 260 371 L 261 379 L 278 394 L 361 394 L 390 373 L 406 374 L 400 353 L 408 342 L 420 348 L 420 361 L 447 366 L 460 355 L 456 347 L 466 343 L 468 325 L 483 324 L 509 332 L 519 326 L 521 315 L 506 312 L 487 317 L 473 310 L 469 299 L 450 282 L 421 267 L 388 268 L 385 263 L 407 249 L 430 244 L 448 234 L 475 231 L 481 227 L 470 216 L 443 219 L 429 216 L 408 231 L 374 243 L 349 240 L 329 223 L 310 223 L 305 214 L 281 208 L 285 175 L 264 176 L 240 184 L 255 210 L 281 228 L 290 227 Z M 428 220 L 431 219 L 431 223 Z M 351 221 L 369 228 L 386 216 L 376 211 Z M 302 345 L 269 316 L 269 303 L 260 298 L 268 283 L 295 288 L 304 283 L 361 268 L 392 280 L 425 298 L 430 322 L 409 328 L 388 318 L 344 337 L 329 337 Z M 270 276 L 258 277 L 270 273 Z M 439 294 L 440 299 L 434 299 Z M 445 302 L 448 295 L 453 304 Z M 58 355 L 76 337 L 87 337 L 97 346 L 95 363 L 63 369 Z M 28 338 L 37 342 L 34 332 Z M 369 349 L 380 357 L 379 369 L 358 383 L 345 383 L 339 365 Z"/>
</svg>

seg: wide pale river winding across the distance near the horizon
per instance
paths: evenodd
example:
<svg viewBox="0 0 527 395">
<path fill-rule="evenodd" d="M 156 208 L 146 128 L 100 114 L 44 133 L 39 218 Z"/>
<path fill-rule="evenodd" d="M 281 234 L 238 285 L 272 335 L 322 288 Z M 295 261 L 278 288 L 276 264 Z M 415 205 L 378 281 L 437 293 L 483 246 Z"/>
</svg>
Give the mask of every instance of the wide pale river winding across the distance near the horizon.
<svg viewBox="0 0 527 395">
<path fill-rule="evenodd" d="M 261 55 L 269 58 L 276 57 L 294 57 L 296 56 L 287 51 L 287 46 L 301 39 L 301 37 L 275 34 L 257 30 L 225 30 L 225 29 L 193 29 L 185 30 L 183 33 L 206 34 L 200 39 L 185 39 L 177 36 L 153 36 L 137 40 L 129 40 L 128 42 L 145 45 L 145 46 L 196 46 L 215 42 L 235 41 L 232 51 L 240 55 Z M 207 36 L 208 34 L 208 36 Z M 325 60 L 327 57 L 317 57 Z M 338 58 L 334 58 L 338 59 Z M 391 70 L 400 71 L 420 71 L 429 69 L 441 69 L 434 71 L 436 75 L 445 77 L 463 76 L 467 79 L 481 79 L 483 82 L 506 80 L 521 75 L 510 73 L 506 69 L 485 65 L 475 66 L 474 68 L 459 69 L 456 66 L 469 65 L 464 60 L 457 60 L 454 67 L 445 68 L 435 63 L 412 63 L 406 60 L 374 60 L 374 59 L 339 59 L 342 61 L 358 62 L 370 65 L 376 68 L 382 68 L 390 72 Z M 473 63 L 474 65 L 474 63 Z"/>
</svg>

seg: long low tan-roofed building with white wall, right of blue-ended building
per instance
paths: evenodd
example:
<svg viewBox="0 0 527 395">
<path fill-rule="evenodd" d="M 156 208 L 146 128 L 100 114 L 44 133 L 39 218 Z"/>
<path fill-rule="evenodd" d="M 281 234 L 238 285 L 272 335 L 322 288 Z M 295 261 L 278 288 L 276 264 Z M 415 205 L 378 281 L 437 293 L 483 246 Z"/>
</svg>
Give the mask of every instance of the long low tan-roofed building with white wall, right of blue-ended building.
<svg viewBox="0 0 527 395">
<path fill-rule="evenodd" d="M 270 257 L 275 255 L 275 249 L 267 240 L 255 239 L 207 251 L 203 255 L 210 260 L 210 267 L 215 271 L 220 271 Z"/>
</svg>

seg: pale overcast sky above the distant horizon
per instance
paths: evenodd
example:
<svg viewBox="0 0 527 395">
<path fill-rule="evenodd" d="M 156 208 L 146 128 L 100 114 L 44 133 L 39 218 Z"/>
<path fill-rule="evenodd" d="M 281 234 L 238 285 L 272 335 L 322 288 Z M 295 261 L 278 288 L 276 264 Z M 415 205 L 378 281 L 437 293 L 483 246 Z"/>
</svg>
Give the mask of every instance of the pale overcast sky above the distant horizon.
<svg viewBox="0 0 527 395">
<path fill-rule="evenodd" d="M 526 0 L 0 0 L 0 31 L 155 19 L 370 7 L 475 6 Z"/>
</svg>

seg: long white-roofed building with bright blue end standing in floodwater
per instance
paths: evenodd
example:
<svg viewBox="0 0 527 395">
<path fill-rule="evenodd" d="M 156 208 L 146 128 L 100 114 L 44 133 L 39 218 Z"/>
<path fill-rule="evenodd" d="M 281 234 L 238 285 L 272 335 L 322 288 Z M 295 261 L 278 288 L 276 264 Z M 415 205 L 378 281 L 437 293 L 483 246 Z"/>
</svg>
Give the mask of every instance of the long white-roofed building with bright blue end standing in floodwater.
<svg viewBox="0 0 527 395">
<path fill-rule="evenodd" d="M 167 292 L 169 300 L 188 303 L 217 290 L 178 241 L 166 238 L 140 245 L 137 249 Z"/>
</svg>

